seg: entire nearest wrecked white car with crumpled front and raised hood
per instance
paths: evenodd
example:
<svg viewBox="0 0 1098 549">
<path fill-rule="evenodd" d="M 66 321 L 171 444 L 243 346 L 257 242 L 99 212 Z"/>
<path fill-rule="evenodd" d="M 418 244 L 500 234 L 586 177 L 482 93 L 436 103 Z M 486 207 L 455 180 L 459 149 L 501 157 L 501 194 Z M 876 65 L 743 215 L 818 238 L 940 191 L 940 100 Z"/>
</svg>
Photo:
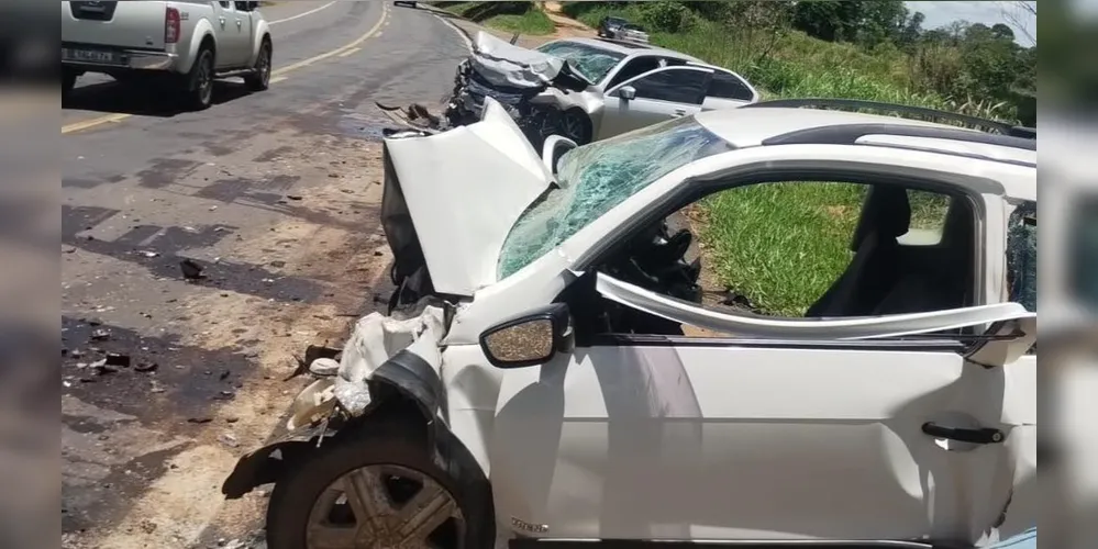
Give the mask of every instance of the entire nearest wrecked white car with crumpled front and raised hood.
<svg viewBox="0 0 1098 549">
<path fill-rule="evenodd" d="M 488 99 L 475 124 L 390 136 L 389 315 L 223 492 L 275 483 L 271 549 L 929 549 L 1033 526 L 1035 137 L 791 108 L 539 155 Z M 652 227 L 790 181 L 867 188 L 808 314 L 683 293 L 689 237 Z M 949 199 L 936 238 L 912 189 Z"/>
</svg>

